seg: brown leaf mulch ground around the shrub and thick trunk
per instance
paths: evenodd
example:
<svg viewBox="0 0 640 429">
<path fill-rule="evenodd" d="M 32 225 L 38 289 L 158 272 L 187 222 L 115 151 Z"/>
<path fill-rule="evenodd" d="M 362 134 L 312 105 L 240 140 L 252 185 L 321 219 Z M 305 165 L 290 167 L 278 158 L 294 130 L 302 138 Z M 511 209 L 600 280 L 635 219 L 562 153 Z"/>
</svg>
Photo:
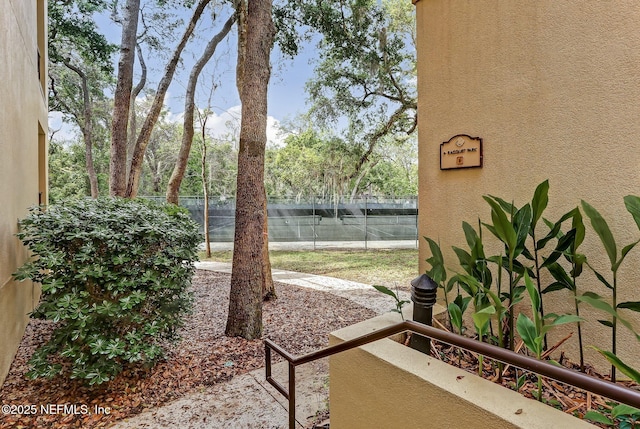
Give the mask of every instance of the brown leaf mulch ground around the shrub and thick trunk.
<svg viewBox="0 0 640 429">
<path fill-rule="evenodd" d="M 247 341 L 224 335 L 230 276 L 197 271 L 192 287 L 196 298 L 194 313 L 182 329 L 183 340 L 172 347 L 167 359 L 151 370 L 125 371 L 100 388 L 89 389 L 78 381 L 62 377 L 27 380 L 27 362 L 52 329 L 50 322 L 32 320 L 0 390 L 0 404 L 35 405 L 36 412 L 0 414 L 0 428 L 106 427 L 199 387 L 264 366 L 262 340 Z M 324 292 L 280 283 L 276 284 L 276 291 L 278 299 L 263 306 L 263 337 L 271 338 L 294 354 L 322 348 L 327 345 L 329 332 L 375 315 L 371 310 Z M 40 408 L 58 404 L 76 405 L 78 413 L 55 414 L 55 407 L 43 413 Z M 95 406 L 109 407 L 110 413 L 94 413 Z"/>
</svg>

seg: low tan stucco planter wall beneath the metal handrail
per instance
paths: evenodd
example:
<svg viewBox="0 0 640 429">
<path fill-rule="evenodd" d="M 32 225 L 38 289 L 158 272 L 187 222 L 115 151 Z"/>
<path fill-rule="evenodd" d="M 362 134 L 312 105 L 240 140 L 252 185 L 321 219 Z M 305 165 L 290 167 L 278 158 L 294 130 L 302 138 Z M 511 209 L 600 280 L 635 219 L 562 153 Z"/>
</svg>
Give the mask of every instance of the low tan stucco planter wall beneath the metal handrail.
<svg viewBox="0 0 640 429">
<path fill-rule="evenodd" d="M 399 321 L 387 313 L 331 333 L 329 343 Z M 332 429 L 594 427 L 389 339 L 330 357 L 329 383 Z"/>
</svg>

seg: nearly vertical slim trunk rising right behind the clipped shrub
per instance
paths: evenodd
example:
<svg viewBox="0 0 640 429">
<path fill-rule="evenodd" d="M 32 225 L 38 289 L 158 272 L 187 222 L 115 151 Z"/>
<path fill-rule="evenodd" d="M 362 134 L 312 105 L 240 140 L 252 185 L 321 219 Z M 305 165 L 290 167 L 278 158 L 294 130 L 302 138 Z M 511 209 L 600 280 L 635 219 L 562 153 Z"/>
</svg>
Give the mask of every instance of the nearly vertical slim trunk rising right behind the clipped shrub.
<svg viewBox="0 0 640 429">
<path fill-rule="evenodd" d="M 112 196 L 120 197 L 125 196 L 127 186 L 127 125 L 133 85 L 133 63 L 139 12 L 140 0 L 127 0 L 122 25 L 118 79 L 113 98 L 109 193 Z"/>
</svg>

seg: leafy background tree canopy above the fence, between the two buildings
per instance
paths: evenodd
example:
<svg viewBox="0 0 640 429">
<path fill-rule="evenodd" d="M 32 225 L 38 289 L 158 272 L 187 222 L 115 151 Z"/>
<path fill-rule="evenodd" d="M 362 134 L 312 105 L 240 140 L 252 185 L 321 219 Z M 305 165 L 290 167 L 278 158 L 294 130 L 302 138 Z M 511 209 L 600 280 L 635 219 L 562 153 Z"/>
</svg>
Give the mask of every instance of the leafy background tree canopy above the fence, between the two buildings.
<svg viewBox="0 0 640 429">
<path fill-rule="evenodd" d="M 224 8 L 230 4 L 208 3 L 207 0 L 142 0 L 136 35 L 136 43 L 141 47 L 138 61 L 148 60 L 142 55 L 151 55 L 171 60 L 171 67 L 180 69 L 180 36 L 186 44 L 202 35 L 192 28 L 194 36 L 187 29 L 188 25 L 194 28 L 200 25 L 199 21 L 187 22 L 176 13 L 182 10 L 186 18 L 192 16 L 192 12 L 195 16 L 197 8 L 201 13 L 206 7 L 210 12 L 203 16 L 208 19 L 214 15 L 228 16 Z M 119 25 L 125 2 L 51 0 L 48 4 L 50 106 L 81 131 L 80 141 L 52 148 L 51 162 L 65 163 L 59 171 L 51 170 L 52 195 L 75 194 L 78 189 L 93 194 L 93 186 L 99 188 L 100 193 L 106 193 L 117 46 L 109 44 L 101 34 L 95 16 L 110 16 Z M 284 144 L 267 148 L 267 193 L 298 198 L 312 194 L 414 194 L 417 154 L 413 133 L 416 90 L 412 5 L 400 0 L 381 3 L 280 0 L 274 4 L 273 16 L 276 42 L 282 52 L 295 55 L 315 45 L 318 55 L 314 77 L 307 83 L 310 101 L 305 119 L 296 119 L 295 125 L 291 122 L 284 125 L 282 131 L 287 136 Z M 212 21 L 209 22 L 208 28 L 215 28 L 211 27 Z M 175 49 L 171 48 L 174 43 Z M 88 89 L 86 93 L 83 81 Z M 131 101 L 133 113 L 127 121 L 130 163 L 134 155 L 131 136 L 134 143 L 135 136 L 148 136 L 143 138 L 148 142 L 142 141 L 135 155 L 138 157 L 135 163 L 140 168 L 139 181 L 135 173 L 128 173 L 129 188 L 136 188 L 140 195 L 166 193 L 171 171 L 179 159 L 180 139 L 184 140 L 184 124 L 176 123 L 172 119 L 174 115 L 166 110 L 152 112 L 161 106 L 158 97 L 160 101 L 164 98 L 167 82 L 154 89 L 149 85 L 160 81 L 160 76 L 150 76 L 137 99 Z M 152 103 L 154 98 L 156 101 Z M 191 139 L 201 139 L 201 134 L 195 132 Z M 211 196 L 229 198 L 235 194 L 237 138 L 237 135 L 209 138 L 207 186 Z M 76 146 L 78 143 L 82 146 Z M 194 145 L 185 153 L 188 156 L 179 183 L 181 195 L 202 194 L 199 147 L 200 144 Z M 81 148 L 84 148 L 84 159 L 78 156 Z M 93 173 L 83 180 L 80 174 L 74 174 L 70 181 L 61 180 L 65 171 L 71 170 L 67 165 L 71 162 L 76 164 L 76 170 L 84 172 L 93 166 Z M 55 189 L 58 186 L 69 189 L 58 192 Z"/>
</svg>

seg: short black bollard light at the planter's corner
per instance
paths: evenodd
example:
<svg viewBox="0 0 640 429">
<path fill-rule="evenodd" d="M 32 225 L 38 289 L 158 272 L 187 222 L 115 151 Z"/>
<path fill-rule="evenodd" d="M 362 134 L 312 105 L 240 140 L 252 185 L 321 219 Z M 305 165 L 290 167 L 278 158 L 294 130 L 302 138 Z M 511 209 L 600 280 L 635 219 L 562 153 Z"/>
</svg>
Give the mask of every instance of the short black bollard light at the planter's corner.
<svg viewBox="0 0 640 429">
<path fill-rule="evenodd" d="M 433 305 L 436 303 L 438 284 L 428 275 L 422 274 L 411 281 L 413 320 L 431 326 Z M 411 334 L 409 346 L 422 353 L 431 354 L 431 339 L 415 332 Z"/>
</svg>

